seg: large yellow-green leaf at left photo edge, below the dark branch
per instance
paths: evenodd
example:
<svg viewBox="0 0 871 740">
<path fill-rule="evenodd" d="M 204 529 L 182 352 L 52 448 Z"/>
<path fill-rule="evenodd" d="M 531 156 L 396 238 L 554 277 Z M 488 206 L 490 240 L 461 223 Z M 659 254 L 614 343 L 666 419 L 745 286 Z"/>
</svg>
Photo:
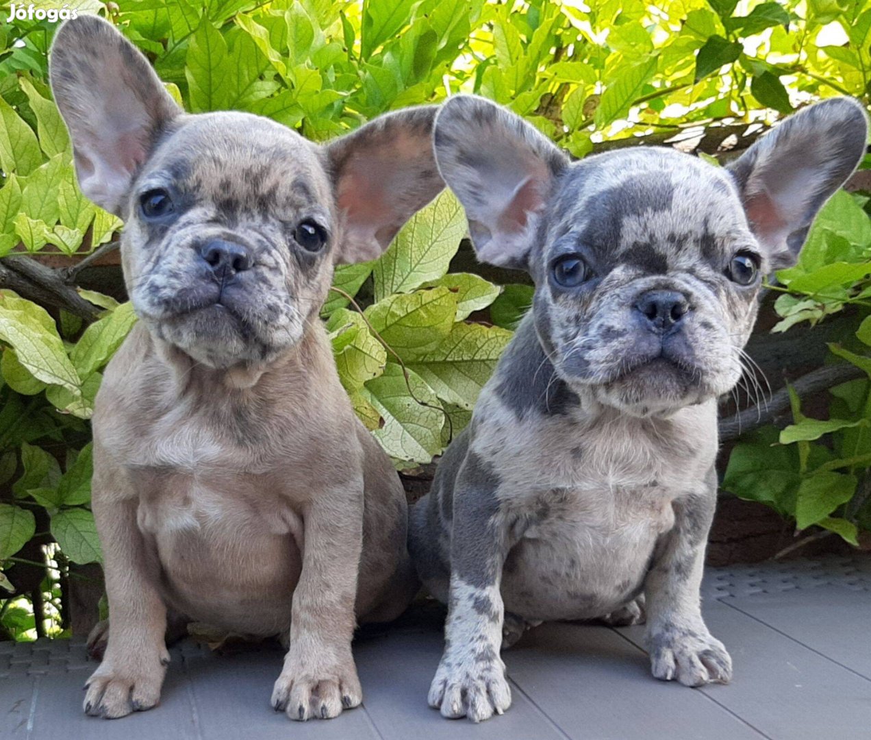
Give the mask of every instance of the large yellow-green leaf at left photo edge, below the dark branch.
<svg viewBox="0 0 871 740">
<path fill-rule="evenodd" d="M 0 338 L 16 351 L 18 362 L 44 383 L 74 395 L 81 380 L 66 354 L 57 327 L 45 309 L 10 291 L 0 293 Z"/>
</svg>

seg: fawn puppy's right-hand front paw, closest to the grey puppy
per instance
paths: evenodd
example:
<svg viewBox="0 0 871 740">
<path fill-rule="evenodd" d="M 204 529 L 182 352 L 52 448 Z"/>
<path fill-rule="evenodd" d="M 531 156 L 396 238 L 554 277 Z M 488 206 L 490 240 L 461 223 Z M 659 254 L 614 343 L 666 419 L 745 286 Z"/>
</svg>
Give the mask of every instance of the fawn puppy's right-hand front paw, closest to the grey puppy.
<svg viewBox="0 0 871 740">
<path fill-rule="evenodd" d="M 359 706 L 363 691 L 354 659 L 332 668 L 315 662 L 288 660 L 273 688 L 275 711 L 286 712 L 291 719 L 304 721 L 313 717 L 331 719 L 342 709 Z"/>
</svg>

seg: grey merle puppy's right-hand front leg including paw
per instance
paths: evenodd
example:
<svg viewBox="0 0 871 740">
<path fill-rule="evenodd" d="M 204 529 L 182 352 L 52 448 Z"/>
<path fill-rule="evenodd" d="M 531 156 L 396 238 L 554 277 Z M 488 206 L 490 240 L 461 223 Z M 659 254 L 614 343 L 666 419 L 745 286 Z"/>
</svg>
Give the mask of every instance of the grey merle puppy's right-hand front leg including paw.
<svg viewBox="0 0 871 740">
<path fill-rule="evenodd" d="M 732 659 L 702 620 L 699 595 L 716 496 L 712 473 L 708 491 L 674 502 L 674 528 L 645 580 L 646 643 L 653 676 L 677 679 L 685 686 L 732 678 Z"/>
</svg>

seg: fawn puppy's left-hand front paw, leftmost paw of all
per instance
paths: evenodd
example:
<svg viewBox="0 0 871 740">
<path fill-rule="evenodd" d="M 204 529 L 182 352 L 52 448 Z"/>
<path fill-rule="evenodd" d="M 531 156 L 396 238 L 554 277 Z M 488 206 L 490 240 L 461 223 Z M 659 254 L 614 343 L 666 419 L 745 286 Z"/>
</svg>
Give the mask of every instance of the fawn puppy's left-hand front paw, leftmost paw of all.
<svg viewBox="0 0 871 740">
<path fill-rule="evenodd" d="M 150 658 L 113 662 L 105 660 L 84 684 L 84 713 L 118 719 L 131 712 L 152 709 L 160 700 L 169 653 L 165 649 Z M 120 664 L 118 664 L 120 663 Z"/>
</svg>

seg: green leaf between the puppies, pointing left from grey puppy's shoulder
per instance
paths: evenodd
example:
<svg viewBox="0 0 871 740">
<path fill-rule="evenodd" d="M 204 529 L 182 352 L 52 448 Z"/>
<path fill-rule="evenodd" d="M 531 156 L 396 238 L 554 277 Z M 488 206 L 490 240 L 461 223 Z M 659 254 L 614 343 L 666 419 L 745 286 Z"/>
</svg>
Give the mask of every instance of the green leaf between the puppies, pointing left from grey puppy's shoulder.
<svg viewBox="0 0 871 740">
<path fill-rule="evenodd" d="M 510 339 L 496 326 L 458 323 L 436 350 L 406 364 L 443 401 L 470 411 Z"/>
</svg>

